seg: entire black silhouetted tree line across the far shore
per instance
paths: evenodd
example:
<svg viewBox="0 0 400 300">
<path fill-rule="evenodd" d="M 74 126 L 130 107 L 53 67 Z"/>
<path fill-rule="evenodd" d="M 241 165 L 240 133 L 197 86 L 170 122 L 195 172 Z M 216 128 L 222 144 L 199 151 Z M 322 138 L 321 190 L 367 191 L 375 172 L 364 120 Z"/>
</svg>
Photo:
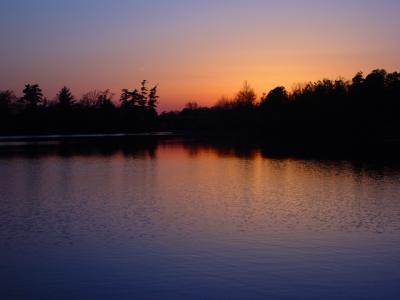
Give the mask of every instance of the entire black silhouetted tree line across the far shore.
<svg viewBox="0 0 400 300">
<path fill-rule="evenodd" d="M 23 96 L 0 91 L 1 133 L 132 132 L 168 130 L 285 139 L 399 139 L 400 73 L 377 69 L 351 80 L 323 79 L 291 91 L 278 86 L 258 97 L 248 83 L 211 107 L 188 103 L 180 111 L 156 108 L 157 86 L 91 91 L 79 100 L 64 87 L 53 101 L 36 84 Z"/>
</svg>

